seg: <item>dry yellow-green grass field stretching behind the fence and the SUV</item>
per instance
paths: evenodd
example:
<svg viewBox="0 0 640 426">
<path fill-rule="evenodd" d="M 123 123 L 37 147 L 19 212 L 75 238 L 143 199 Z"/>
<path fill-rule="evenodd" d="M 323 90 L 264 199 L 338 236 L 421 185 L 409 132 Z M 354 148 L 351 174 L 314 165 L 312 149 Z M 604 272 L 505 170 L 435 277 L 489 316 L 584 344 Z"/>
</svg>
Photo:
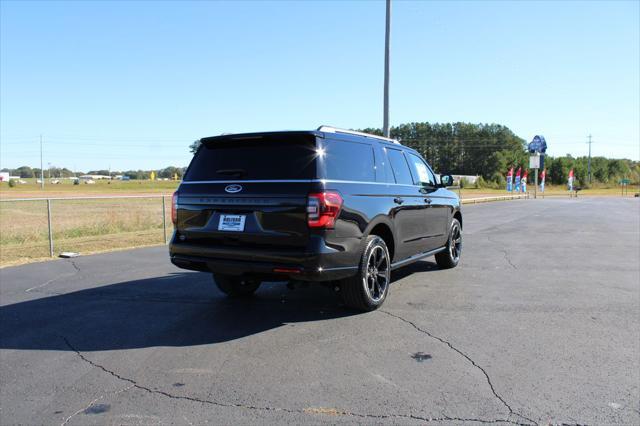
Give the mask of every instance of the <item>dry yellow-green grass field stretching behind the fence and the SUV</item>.
<svg viewBox="0 0 640 426">
<path fill-rule="evenodd" d="M 150 198 L 53 200 L 51 218 L 54 253 L 82 254 L 164 243 L 162 195 L 170 235 L 172 181 L 98 181 L 94 185 L 45 185 L 35 180 L 9 188 L 0 184 L 0 267 L 49 258 L 47 204 L 45 201 L 6 201 L 13 198 L 71 198 L 85 196 L 149 195 Z M 531 187 L 530 187 L 531 189 Z M 637 192 L 637 188 L 634 188 Z M 456 190 L 456 192 L 458 192 Z M 507 195 L 503 190 L 464 188 L 463 199 Z M 634 191 L 630 189 L 629 196 Z M 620 196 L 620 188 L 597 188 L 580 196 Z M 564 187 L 548 187 L 545 196 L 568 197 Z M 153 198 L 151 198 L 153 197 Z"/>
</svg>

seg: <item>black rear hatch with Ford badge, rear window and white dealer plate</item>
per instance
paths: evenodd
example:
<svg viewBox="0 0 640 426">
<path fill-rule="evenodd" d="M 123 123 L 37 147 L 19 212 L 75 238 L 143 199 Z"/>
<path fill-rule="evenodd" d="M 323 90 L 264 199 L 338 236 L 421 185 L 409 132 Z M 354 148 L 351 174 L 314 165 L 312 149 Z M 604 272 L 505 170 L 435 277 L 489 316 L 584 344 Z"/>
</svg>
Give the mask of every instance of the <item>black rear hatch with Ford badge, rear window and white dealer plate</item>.
<svg viewBox="0 0 640 426">
<path fill-rule="evenodd" d="M 176 243 L 305 247 L 316 137 L 281 132 L 203 139 L 178 191 Z"/>
</svg>

